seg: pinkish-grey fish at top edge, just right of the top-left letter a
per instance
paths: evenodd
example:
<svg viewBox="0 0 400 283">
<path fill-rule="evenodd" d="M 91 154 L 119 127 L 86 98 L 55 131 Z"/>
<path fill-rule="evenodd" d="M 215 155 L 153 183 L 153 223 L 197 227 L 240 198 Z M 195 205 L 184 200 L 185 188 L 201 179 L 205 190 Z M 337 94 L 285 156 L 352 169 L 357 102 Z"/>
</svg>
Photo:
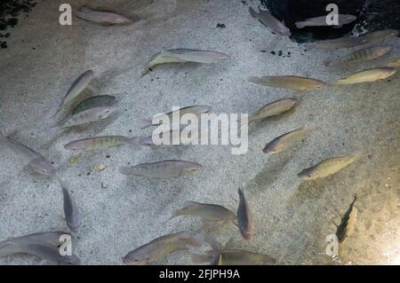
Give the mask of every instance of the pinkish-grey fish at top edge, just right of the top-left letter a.
<svg viewBox="0 0 400 283">
<path fill-rule="evenodd" d="M 76 17 L 103 25 L 122 25 L 132 23 L 132 19 L 115 12 L 97 11 L 86 6 L 80 6 Z"/>
</svg>

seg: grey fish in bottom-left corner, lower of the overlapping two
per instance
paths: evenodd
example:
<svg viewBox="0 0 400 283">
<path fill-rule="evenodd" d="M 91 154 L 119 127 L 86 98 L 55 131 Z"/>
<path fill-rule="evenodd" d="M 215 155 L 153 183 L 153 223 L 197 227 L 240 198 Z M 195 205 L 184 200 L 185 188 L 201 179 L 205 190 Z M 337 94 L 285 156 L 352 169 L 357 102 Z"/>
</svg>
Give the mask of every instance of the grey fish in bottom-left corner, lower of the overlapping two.
<svg viewBox="0 0 400 283">
<path fill-rule="evenodd" d="M 60 248 L 45 243 L 8 242 L 0 248 L 0 257 L 9 255 L 36 255 L 51 263 L 65 265 L 79 265 L 80 259 L 76 255 L 60 255 Z"/>
</svg>

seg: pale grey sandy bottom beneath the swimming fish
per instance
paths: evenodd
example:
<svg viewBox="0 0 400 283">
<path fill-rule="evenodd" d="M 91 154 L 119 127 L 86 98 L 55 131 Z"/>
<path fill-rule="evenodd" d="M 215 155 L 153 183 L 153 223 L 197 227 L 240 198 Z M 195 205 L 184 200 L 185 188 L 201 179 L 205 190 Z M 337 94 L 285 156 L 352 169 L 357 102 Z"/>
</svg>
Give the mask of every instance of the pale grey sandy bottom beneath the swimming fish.
<svg viewBox="0 0 400 283">
<path fill-rule="evenodd" d="M 101 8 L 137 18 L 124 27 L 75 18 L 72 27 L 61 27 L 61 3 L 39 1 L 12 30 L 9 48 L 0 51 L 0 129 L 43 153 L 68 181 L 84 218 L 73 247 L 82 263 L 122 264 L 121 258 L 133 248 L 184 230 L 211 232 L 226 248 L 266 253 L 282 264 L 399 262 L 399 75 L 301 96 L 246 82 L 249 75 L 329 81 L 380 66 L 388 57 L 358 68 L 328 69 L 326 59 L 348 51 L 304 51 L 288 38 L 271 35 L 241 1 L 99 1 Z M 218 23 L 226 28 L 216 28 Z M 398 38 L 386 44 L 394 49 L 389 56 L 400 55 Z M 222 51 L 231 59 L 218 65 L 156 67 L 141 79 L 148 59 L 162 48 Z M 291 56 L 280 57 L 279 51 Z M 54 138 L 51 116 L 70 84 L 87 69 L 95 72 L 100 94 L 118 97 L 120 114 Z M 252 125 L 244 155 L 232 155 L 229 146 L 124 145 L 84 153 L 71 163 L 71 153 L 63 148 L 72 139 L 88 136 L 149 134 L 149 129 L 140 130 L 140 119 L 171 111 L 172 106 L 209 105 L 216 113 L 252 114 L 270 101 L 296 96 L 300 104 L 290 114 Z M 316 130 L 292 149 L 273 156 L 261 152 L 272 138 L 303 125 Z M 363 157 L 331 177 L 313 182 L 297 177 L 319 161 L 351 153 Z M 119 166 L 164 159 L 197 161 L 204 170 L 168 180 L 128 178 L 118 172 Z M 55 180 L 25 169 L 4 145 L 0 164 L 0 239 L 68 230 Z M 96 170 L 100 165 L 106 169 Z M 202 224 L 190 217 L 169 220 L 186 200 L 236 209 L 239 185 L 252 208 L 252 242 L 245 242 L 233 224 Z M 333 223 L 340 222 L 355 194 L 356 230 L 340 245 L 340 260 L 332 261 L 324 255 L 325 237 L 336 231 Z M 41 261 L 32 256 L 0 259 L 0 264 L 37 263 Z M 188 252 L 180 252 L 159 263 L 191 261 Z"/>
</svg>

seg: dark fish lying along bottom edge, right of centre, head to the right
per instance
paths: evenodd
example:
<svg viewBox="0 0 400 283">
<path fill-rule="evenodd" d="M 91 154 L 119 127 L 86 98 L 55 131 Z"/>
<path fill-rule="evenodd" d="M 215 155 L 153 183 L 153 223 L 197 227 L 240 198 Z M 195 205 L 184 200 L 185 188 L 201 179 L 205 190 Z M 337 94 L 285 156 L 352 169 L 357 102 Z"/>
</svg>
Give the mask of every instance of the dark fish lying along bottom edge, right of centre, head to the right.
<svg viewBox="0 0 400 283">
<path fill-rule="evenodd" d="M 211 262 L 214 255 L 212 252 L 207 255 L 192 255 L 194 263 Z M 275 264 L 276 259 L 269 255 L 252 253 L 240 249 L 222 249 L 219 265 L 270 265 Z"/>
</svg>

